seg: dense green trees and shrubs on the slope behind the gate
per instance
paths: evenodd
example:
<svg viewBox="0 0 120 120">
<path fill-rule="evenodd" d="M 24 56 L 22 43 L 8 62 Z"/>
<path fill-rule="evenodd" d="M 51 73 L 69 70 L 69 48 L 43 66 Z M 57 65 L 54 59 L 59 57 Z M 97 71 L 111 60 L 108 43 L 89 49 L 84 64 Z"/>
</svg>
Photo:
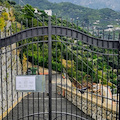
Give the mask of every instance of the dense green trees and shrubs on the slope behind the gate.
<svg viewBox="0 0 120 120">
<path fill-rule="evenodd" d="M 37 15 L 38 20 L 34 17 L 33 13 L 30 13 L 30 11 L 34 12 L 34 9 L 30 5 L 26 5 L 23 8 L 20 6 L 15 6 L 14 14 L 17 23 L 17 31 L 19 31 L 22 27 L 22 29 L 26 28 L 26 20 L 28 20 L 28 27 L 32 27 L 32 21 L 33 26 L 42 26 L 43 23 L 41 22 L 43 16 L 44 16 L 44 25 L 48 25 L 48 16 L 45 14 L 44 11 L 39 10 L 42 14 Z M 33 18 L 34 17 L 34 18 Z M 22 21 L 22 26 L 20 26 L 20 22 Z M 57 18 L 55 16 L 52 16 L 52 24 L 55 24 L 57 22 L 58 25 L 61 25 L 61 19 Z M 70 22 L 67 22 L 66 20 L 62 21 L 63 26 L 68 27 L 74 27 L 77 28 L 75 24 L 71 24 Z M 13 32 L 16 31 L 16 23 L 12 23 L 12 29 Z M 78 30 L 85 32 L 89 35 L 87 31 L 83 30 L 81 27 L 78 27 Z M 63 72 L 63 68 L 68 73 L 70 77 L 73 77 L 77 79 L 80 83 L 83 81 L 93 81 L 98 83 L 99 81 L 102 81 L 104 85 L 109 83 L 109 86 L 115 87 L 117 84 L 117 73 L 115 70 L 117 69 L 117 57 L 116 56 L 107 56 L 107 55 L 99 55 L 97 53 L 88 52 L 88 50 L 93 50 L 96 52 L 103 52 L 105 54 L 107 53 L 117 53 L 115 50 L 102 50 L 100 48 L 92 47 L 90 45 L 83 44 L 81 41 L 78 41 L 78 48 L 74 44 L 74 39 L 67 38 L 67 37 L 61 37 L 61 36 L 52 36 L 53 40 L 57 40 L 58 42 L 53 42 L 52 44 L 52 69 L 57 70 L 58 72 Z M 34 65 L 39 65 L 48 68 L 48 43 L 38 43 L 38 41 L 47 41 L 48 36 L 44 37 L 35 37 L 27 40 L 23 40 L 22 42 L 19 42 L 18 45 L 21 46 L 22 44 L 27 44 L 25 47 L 22 47 L 20 49 L 20 58 L 21 62 L 23 62 L 23 58 L 28 58 L 27 60 L 31 63 L 34 63 Z M 62 42 L 61 42 L 62 40 Z M 65 43 L 65 42 L 68 43 Z M 32 43 L 36 42 L 36 43 Z M 56 57 L 57 55 L 57 57 Z M 113 72 L 114 71 L 114 72 Z M 112 86 L 112 83 L 115 85 Z"/>
</svg>

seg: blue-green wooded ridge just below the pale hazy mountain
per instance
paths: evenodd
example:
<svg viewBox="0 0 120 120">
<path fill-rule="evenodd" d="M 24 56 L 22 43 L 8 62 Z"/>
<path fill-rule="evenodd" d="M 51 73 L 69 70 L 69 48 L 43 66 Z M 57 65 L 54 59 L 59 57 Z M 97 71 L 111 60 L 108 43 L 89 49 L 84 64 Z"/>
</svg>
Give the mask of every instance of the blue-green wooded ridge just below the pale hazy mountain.
<svg viewBox="0 0 120 120">
<path fill-rule="evenodd" d="M 14 0 L 18 3 L 18 0 Z M 87 7 L 82 7 L 75 5 L 69 2 L 62 3 L 51 3 L 48 0 L 24 0 L 25 4 L 30 4 L 39 9 L 52 9 L 53 14 L 58 17 L 63 17 L 64 19 L 79 19 L 81 23 L 93 24 L 96 20 L 99 20 L 99 26 L 106 26 L 108 24 L 119 25 L 120 13 L 115 12 L 112 9 L 104 8 L 100 10 L 95 10 Z M 23 2 L 20 2 L 20 5 L 24 5 Z"/>
</svg>

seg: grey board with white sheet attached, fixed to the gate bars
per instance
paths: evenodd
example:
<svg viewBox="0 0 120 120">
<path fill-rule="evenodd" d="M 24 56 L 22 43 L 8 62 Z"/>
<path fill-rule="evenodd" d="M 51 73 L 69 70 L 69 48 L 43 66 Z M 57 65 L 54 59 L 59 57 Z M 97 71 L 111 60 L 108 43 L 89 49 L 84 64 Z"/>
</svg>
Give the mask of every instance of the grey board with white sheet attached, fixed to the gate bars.
<svg viewBox="0 0 120 120">
<path fill-rule="evenodd" d="M 45 92 L 45 75 L 16 76 L 16 91 Z"/>
</svg>

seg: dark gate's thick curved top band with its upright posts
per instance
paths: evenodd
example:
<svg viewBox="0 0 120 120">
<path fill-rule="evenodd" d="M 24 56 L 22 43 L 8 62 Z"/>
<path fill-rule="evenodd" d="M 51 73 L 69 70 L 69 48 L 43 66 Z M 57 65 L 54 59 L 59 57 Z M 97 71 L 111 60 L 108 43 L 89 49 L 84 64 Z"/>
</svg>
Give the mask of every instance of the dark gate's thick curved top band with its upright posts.
<svg viewBox="0 0 120 120">
<path fill-rule="evenodd" d="M 39 32 L 42 30 L 45 32 Z M 57 31 L 57 32 L 55 32 Z M 62 32 L 61 32 L 62 31 Z M 73 34 L 71 34 L 72 32 Z M 1 34 L 1 33 L 0 33 Z M 52 26 L 51 17 L 49 16 L 48 26 L 42 27 L 32 27 L 21 32 L 15 33 L 9 37 L 0 38 L 0 49 L 6 47 L 15 42 L 19 42 L 23 39 L 35 37 L 35 36 L 44 36 L 48 35 L 48 68 L 49 68 L 49 120 L 52 120 L 52 35 L 68 36 L 76 39 L 80 39 L 83 43 L 88 45 L 96 46 L 98 48 L 107 48 L 107 49 L 117 49 L 118 50 L 118 89 L 117 96 L 119 97 L 119 118 L 120 118 L 120 34 L 119 40 L 104 40 L 100 38 L 95 38 L 89 36 L 81 31 L 75 30 L 73 28 L 63 27 L 63 26 Z M 1 35 L 0 35 L 1 36 Z M 16 40 L 16 37 L 18 38 Z M 83 38 L 83 39 L 81 39 Z M 11 40 L 11 41 L 10 41 Z"/>
</svg>

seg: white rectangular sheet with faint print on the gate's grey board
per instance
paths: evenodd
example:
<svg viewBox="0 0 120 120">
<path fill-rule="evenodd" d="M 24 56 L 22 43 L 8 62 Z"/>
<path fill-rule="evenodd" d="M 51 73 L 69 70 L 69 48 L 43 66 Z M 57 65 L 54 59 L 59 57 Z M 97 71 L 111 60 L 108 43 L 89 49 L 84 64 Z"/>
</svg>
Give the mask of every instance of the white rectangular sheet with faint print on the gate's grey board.
<svg viewBox="0 0 120 120">
<path fill-rule="evenodd" d="M 16 76 L 16 90 L 36 90 L 36 76 Z"/>
</svg>

